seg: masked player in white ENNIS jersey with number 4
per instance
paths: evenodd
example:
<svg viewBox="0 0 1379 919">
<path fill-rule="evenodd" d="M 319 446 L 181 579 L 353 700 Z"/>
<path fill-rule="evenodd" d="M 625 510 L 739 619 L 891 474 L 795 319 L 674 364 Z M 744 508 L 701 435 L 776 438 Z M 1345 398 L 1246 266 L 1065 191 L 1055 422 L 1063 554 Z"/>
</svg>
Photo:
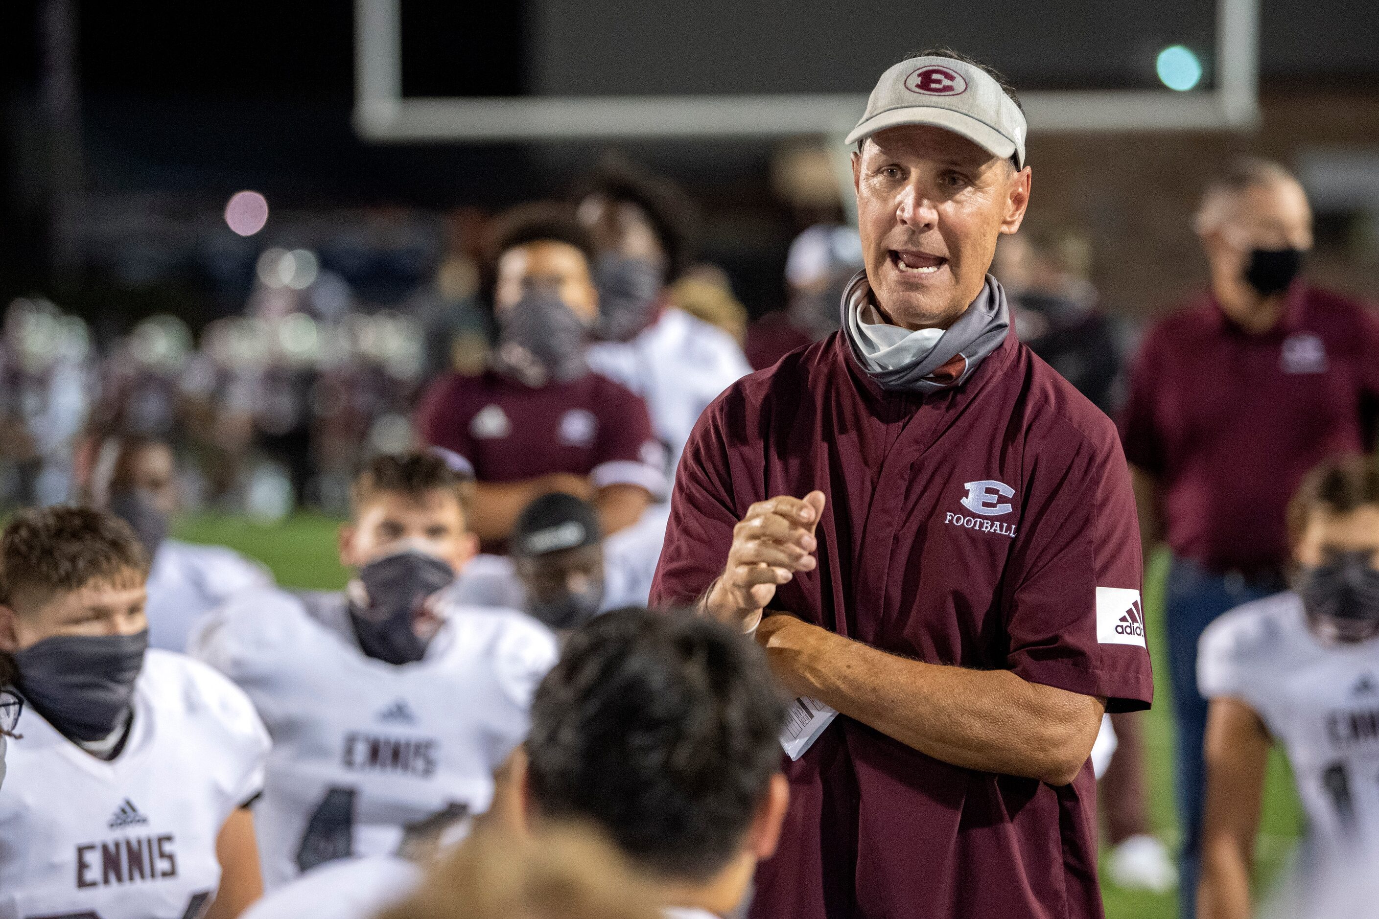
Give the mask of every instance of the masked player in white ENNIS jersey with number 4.
<svg viewBox="0 0 1379 919">
<path fill-rule="evenodd" d="M 434 597 L 473 555 L 463 482 L 434 453 L 381 456 L 353 488 L 343 592 L 250 591 L 208 615 L 192 652 L 248 692 L 273 737 L 255 806 L 263 880 L 392 853 L 436 813 L 484 812 L 554 663 L 517 610 Z"/>
</svg>

